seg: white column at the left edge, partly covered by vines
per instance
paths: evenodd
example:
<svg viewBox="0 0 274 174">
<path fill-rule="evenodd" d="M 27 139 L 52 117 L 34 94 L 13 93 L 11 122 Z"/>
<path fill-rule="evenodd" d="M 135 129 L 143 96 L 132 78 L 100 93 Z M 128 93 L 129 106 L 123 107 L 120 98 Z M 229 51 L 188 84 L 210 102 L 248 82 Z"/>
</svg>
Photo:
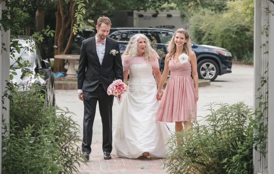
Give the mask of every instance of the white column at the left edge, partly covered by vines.
<svg viewBox="0 0 274 174">
<path fill-rule="evenodd" d="M 2 15 L 2 10 L 6 9 L 5 7 L 5 1 L 2 1 L 0 3 L 0 18 Z M 5 48 L 7 51 L 1 49 L 0 51 L 0 94 L 1 94 L 1 99 L 2 99 L 2 94 L 3 92 L 6 90 L 6 81 L 9 81 L 9 42 L 10 42 L 10 31 L 0 31 L 0 43 L 2 46 L 2 43 L 5 43 Z M 2 114 L 3 114 L 3 118 L 5 119 L 5 123 L 9 123 L 9 100 L 6 98 L 4 100 L 4 105 L 2 105 L 2 101 L 1 101 L 1 105 L 0 105 L 0 116 L 1 116 L 1 120 L 2 120 Z M 4 106 L 5 108 L 7 108 L 7 110 L 2 109 L 2 106 Z M 1 123 L 2 125 L 2 123 Z M 1 126 L 2 127 L 2 126 Z M 0 128 L 0 133 L 2 135 L 2 129 Z M 2 147 L 2 139 L 0 136 L 0 145 Z M 2 148 L 1 148 L 2 149 Z M 1 151 L 1 150 L 0 150 Z M 2 161 L 2 152 L 0 153 L 0 160 Z M 0 163 L 0 174 L 2 171 L 2 163 Z"/>
</svg>

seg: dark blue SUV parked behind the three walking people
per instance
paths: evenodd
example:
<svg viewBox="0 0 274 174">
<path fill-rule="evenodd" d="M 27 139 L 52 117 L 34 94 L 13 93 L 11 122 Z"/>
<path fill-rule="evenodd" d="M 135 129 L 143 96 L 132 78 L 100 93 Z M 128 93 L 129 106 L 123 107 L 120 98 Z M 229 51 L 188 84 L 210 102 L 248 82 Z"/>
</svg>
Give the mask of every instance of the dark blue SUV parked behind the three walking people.
<svg viewBox="0 0 274 174">
<path fill-rule="evenodd" d="M 137 33 L 142 33 L 152 40 L 157 40 L 157 49 L 163 48 L 165 53 L 166 43 L 174 35 L 174 31 L 170 29 L 158 28 L 112 28 L 108 37 L 119 42 L 120 52 L 123 53 L 130 37 Z M 89 30 L 83 30 L 83 35 L 76 36 L 77 43 L 74 42 L 75 48 L 71 49 L 72 54 L 79 54 L 81 42 L 85 36 L 93 36 L 95 33 Z M 74 40 L 75 41 L 75 40 Z M 218 75 L 231 73 L 232 57 L 231 53 L 224 48 L 214 47 L 210 45 L 198 45 L 192 42 L 192 50 L 197 57 L 197 70 L 199 79 L 209 79 L 214 81 Z M 164 58 L 160 63 L 160 70 L 164 69 Z"/>
</svg>

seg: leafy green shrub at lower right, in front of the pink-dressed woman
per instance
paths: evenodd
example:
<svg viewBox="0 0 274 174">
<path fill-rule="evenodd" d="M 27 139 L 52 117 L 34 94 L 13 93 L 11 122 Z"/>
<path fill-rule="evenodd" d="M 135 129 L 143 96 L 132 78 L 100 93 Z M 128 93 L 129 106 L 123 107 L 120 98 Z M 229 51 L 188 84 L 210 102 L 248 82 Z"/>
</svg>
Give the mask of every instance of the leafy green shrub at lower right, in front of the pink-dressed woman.
<svg viewBox="0 0 274 174">
<path fill-rule="evenodd" d="M 208 110 L 210 114 L 194 121 L 190 131 L 169 140 L 171 156 L 164 164 L 168 173 L 252 174 L 252 108 L 240 102 L 210 104 Z"/>
</svg>

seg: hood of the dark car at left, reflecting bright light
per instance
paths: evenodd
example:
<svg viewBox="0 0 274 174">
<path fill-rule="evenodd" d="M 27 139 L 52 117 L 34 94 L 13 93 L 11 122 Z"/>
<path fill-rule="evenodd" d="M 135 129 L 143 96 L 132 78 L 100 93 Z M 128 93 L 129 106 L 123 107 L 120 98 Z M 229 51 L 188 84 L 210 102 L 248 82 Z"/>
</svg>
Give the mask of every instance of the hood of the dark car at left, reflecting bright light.
<svg viewBox="0 0 274 174">
<path fill-rule="evenodd" d="M 32 72 L 33 75 L 29 75 L 29 77 L 26 76 L 25 78 L 23 78 L 25 76 L 25 73 L 27 73 L 29 71 Z M 11 72 L 16 72 L 17 75 L 13 75 Z M 37 79 L 34 77 L 34 75 L 35 75 L 34 68 L 33 69 L 27 68 L 23 72 L 22 72 L 22 68 L 11 68 L 11 72 L 10 72 L 10 74 L 13 75 L 13 79 L 10 81 L 12 83 L 17 83 L 17 85 L 26 85 L 27 83 L 35 83 L 35 82 L 39 82 L 39 83 L 43 84 L 45 82 L 42 78 Z"/>
</svg>

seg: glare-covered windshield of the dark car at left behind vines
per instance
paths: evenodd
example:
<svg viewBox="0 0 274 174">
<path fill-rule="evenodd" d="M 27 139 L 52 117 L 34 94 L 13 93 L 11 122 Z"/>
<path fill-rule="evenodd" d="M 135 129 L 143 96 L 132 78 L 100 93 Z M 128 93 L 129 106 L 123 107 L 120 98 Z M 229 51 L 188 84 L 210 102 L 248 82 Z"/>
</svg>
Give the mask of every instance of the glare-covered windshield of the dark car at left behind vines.
<svg viewBox="0 0 274 174">
<path fill-rule="evenodd" d="M 15 53 L 13 53 L 15 55 L 15 57 L 10 58 L 10 66 L 12 67 L 18 67 L 18 62 L 17 59 L 21 56 L 22 59 L 20 60 L 20 63 L 23 63 L 24 61 L 26 61 L 26 63 L 28 62 L 28 66 L 29 68 L 33 67 L 33 51 L 35 48 L 33 46 L 33 43 L 31 43 L 28 39 L 28 43 L 26 43 L 26 40 L 23 39 L 18 39 L 18 43 L 21 44 L 20 47 L 20 52 L 15 51 Z M 11 47 L 11 49 L 13 49 L 13 47 Z"/>
</svg>

